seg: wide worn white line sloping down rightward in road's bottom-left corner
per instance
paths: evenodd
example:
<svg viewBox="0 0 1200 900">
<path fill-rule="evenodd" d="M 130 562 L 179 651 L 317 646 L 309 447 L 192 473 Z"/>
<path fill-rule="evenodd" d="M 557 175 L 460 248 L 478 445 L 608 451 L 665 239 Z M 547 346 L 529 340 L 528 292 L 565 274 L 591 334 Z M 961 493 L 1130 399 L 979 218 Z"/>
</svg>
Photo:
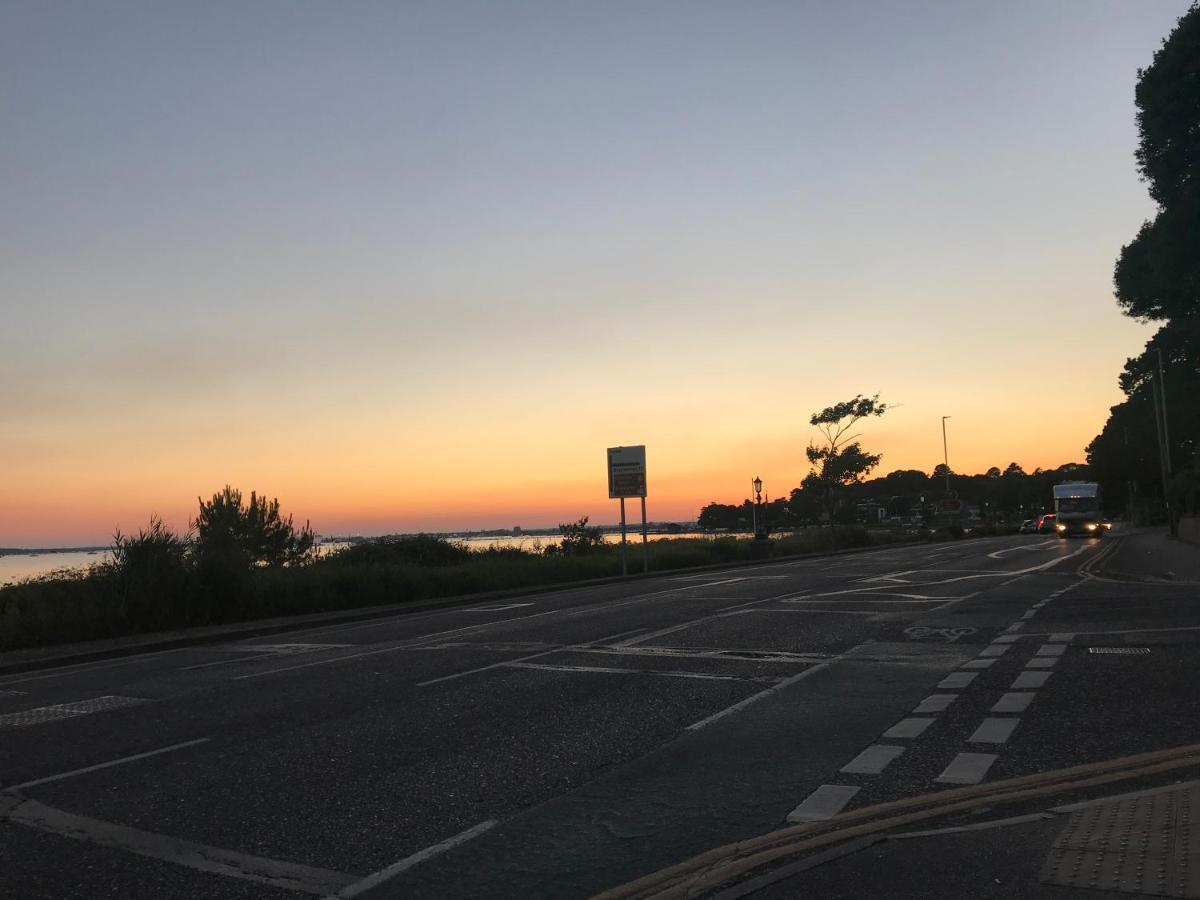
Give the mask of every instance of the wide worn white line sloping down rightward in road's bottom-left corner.
<svg viewBox="0 0 1200 900">
<path fill-rule="evenodd" d="M 325 896 L 334 894 L 354 878 L 329 869 L 316 869 L 278 859 L 266 859 L 232 850 L 168 838 L 164 834 L 102 822 L 86 816 L 47 806 L 37 800 L 23 800 L 8 810 L 8 821 L 65 838 L 98 844 L 102 847 L 125 850 L 151 859 L 161 859 L 188 869 L 215 875 L 227 875 L 242 881 L 270 884 L 283 890 L 299 890 Z"/>
</svg>

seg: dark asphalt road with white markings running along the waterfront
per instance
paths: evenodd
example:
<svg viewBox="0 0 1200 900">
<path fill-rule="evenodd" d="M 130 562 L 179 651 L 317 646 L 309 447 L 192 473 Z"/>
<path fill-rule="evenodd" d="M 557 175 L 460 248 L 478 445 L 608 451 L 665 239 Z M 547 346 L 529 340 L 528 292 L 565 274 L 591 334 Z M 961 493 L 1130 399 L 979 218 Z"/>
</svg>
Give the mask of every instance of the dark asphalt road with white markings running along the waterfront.
<svg viewBox="0 0 1200 900">
<path fill-rule="evenodd" d="M 764 563 L 0 677 L 0 896 L 586 898 L 788 821 L 1200 740 L 1195 587 L 1081 570 L 1110 544 Z"/>
</svg>

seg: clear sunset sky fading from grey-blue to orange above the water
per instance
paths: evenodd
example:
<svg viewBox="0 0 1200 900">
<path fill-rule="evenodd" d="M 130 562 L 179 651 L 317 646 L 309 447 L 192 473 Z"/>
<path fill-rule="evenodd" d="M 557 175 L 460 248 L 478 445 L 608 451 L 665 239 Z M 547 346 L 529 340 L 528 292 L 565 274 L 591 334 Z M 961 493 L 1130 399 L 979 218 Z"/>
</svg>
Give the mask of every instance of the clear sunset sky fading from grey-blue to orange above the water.
<svg viewBox="0 0 1200 900">
<path fill-rule="evenodd" d="M 1187 0 L 0 2 L 0 546 L 1082 461 L 1150 330 L 1133 89 Z"/>
</svg>

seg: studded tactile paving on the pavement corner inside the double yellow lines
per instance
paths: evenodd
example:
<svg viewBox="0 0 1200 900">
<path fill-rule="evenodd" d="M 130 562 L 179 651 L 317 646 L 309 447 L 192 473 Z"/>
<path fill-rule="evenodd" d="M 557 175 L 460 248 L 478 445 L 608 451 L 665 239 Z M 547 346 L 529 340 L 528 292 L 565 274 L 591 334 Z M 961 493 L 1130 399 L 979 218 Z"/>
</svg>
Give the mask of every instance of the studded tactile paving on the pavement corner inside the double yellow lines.
<svg viewBox="0 0 1200 900">
<path fill-rule="evenodd" d="M 1073 888 L 1200 898 L 1200 787 L 1076 810 L 1042 868 L 1042 881 Z"/>
</svg>

